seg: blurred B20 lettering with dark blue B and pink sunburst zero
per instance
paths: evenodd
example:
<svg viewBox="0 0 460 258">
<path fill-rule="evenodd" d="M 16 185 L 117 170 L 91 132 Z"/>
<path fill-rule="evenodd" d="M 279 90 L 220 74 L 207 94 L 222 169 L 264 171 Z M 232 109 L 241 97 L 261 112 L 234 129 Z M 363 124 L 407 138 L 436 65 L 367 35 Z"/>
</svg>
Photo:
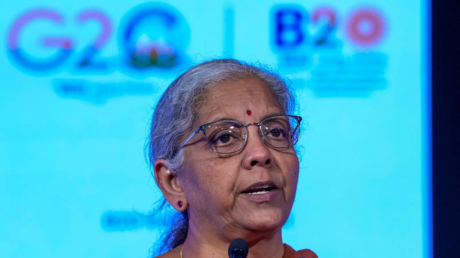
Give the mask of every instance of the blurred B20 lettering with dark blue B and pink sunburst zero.
<svg viewBox="0 0 460 258">
<path fill-rule="evenodd" d="M 309 16 L 303 6 L 277 5 L 271 10 L 272 45 L 277 50 L 311 44 L 313 47 L 335 47 L 337 13 L 332 7 L 323 6 Z M 308 32 L 309 22 L 316 26 L 321 19 L 327 23 L 316 34 Z M 351 42 L 359 46 L 372 46 L 385 35 L 385 20 L 379 11 L 370 8 L 354 10 L 345 23 L 345 33 Z"/>
</svg>

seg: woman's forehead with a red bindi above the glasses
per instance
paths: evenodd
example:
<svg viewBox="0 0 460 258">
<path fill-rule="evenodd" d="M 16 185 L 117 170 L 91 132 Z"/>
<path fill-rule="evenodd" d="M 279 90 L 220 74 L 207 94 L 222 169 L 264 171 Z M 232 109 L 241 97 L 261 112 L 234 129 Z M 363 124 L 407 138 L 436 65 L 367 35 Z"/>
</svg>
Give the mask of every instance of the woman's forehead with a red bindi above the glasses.
<svg viewBox="0 0 460 258">
<path fill-rule="evenodd" d="M 250 110 L 251 115 L 247 114 Z M 258 123 L 269 114 L 283 114 L 275 94 L 265 82 L 256 78 L 215 85 L 198 108 L 199 123 L 231 118 L 244 123 Z"/>
</svg>

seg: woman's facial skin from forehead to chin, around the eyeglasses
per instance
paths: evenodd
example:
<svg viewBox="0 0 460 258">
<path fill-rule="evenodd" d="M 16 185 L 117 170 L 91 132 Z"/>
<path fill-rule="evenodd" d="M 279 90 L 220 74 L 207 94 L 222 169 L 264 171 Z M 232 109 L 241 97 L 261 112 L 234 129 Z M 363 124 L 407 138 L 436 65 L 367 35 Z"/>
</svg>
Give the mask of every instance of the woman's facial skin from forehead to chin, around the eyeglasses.
<svg viewBox="0 0 460 258">
<path fill-rule="evenodd" d="M 216 85 L 198 114 L 194 129 L 220 118 L 260 123 L 284 112 L 267 84 L 242 79 Z M 226 236 L 227 230 L 235 228 L 281 229 L 291 211 L 299 175 L 293 147 L 275 149 L 260 137 L 257 125 L 248 125 L 246 145 L 236 153 L 214 152 L 201 132 L 183 150 L 185 166 L 177 180 L 187 198 L 190 219 Z M 245 193 L 262 185 L 274 189 L 261 195 Z"/>
</svg>

